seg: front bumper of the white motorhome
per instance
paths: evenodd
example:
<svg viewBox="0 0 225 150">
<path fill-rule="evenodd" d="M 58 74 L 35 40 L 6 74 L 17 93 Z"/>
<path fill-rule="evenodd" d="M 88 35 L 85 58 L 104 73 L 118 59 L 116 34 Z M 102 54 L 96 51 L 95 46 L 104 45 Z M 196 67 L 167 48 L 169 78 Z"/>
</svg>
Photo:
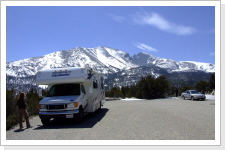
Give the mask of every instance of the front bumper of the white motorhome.
<svg viewBox="0 0 225 150">
<path fill-rule="evenodd" d="M 79 110 L 72 111 L 40 111 L 39 117 L 46 118 L 75 118 L 79 114 Z"/>
</svg>

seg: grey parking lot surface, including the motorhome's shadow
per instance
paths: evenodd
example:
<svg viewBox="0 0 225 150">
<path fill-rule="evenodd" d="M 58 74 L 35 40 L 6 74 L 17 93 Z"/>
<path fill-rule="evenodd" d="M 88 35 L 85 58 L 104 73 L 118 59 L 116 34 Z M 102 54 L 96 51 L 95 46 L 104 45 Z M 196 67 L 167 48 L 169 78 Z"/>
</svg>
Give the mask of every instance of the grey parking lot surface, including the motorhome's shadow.
<svg viewBox="0 0 225 150">
<path fill-rule="evenodd" d="M 82 123 L 53 120 L 6 132 L 6 140 L 215 140 L 215 101 L 157 99 L 107 101 Z"/>
</svg>

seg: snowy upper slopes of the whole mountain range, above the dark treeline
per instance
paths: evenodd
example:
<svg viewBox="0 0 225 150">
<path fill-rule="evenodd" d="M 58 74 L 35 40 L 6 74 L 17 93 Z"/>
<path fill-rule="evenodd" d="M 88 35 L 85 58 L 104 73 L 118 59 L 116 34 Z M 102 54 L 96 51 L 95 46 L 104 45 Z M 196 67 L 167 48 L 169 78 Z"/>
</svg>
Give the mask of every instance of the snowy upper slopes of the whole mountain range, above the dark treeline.
<svg viewBox="0 0 225 150">
<path fill-rule="evenodd" d="M 167 71 L 201 70 L 215 72 L 215 65 L 193 61 L 174 61 L 147 53 L 130 57 L 128 53 L 108 47 L 74 48 L 57 51 L 40 57 L 33 57 L 6 63 L 6 74 L 15 77 L 35 75 L 38 70 L 80 67 L 89 65 L 103 74 L 115 73 L 139 66 L 154 65 Z"/>
</svg>

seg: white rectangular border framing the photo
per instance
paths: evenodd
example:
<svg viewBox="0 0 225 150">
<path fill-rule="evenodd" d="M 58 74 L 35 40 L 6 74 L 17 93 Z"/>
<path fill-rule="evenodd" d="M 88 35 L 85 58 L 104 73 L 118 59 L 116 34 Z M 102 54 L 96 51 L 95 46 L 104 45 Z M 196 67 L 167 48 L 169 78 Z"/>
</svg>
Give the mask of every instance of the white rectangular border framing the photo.
<svg viewBox="0 0 225 150">
<path fill-rule="evenodd" d="M 215 140 L 6 140 L 7 6 L 215 6 Z M 1 1 L 1 145 L 220 145 L 220 1 Z"/>
</svg>

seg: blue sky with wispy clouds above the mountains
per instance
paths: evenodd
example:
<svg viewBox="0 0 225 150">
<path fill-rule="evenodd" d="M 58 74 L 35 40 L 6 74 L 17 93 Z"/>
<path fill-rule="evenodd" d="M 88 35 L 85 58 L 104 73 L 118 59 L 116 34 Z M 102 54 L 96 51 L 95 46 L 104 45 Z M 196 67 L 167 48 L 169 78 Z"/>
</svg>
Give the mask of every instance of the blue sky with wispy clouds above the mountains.
<svg viewBox="0 0 225 150">
<path fill-rule="evenodd" d="M 7 6 L 6 61 L 106 46 L 215 64 L 213 6 Z"/>
</svg>

